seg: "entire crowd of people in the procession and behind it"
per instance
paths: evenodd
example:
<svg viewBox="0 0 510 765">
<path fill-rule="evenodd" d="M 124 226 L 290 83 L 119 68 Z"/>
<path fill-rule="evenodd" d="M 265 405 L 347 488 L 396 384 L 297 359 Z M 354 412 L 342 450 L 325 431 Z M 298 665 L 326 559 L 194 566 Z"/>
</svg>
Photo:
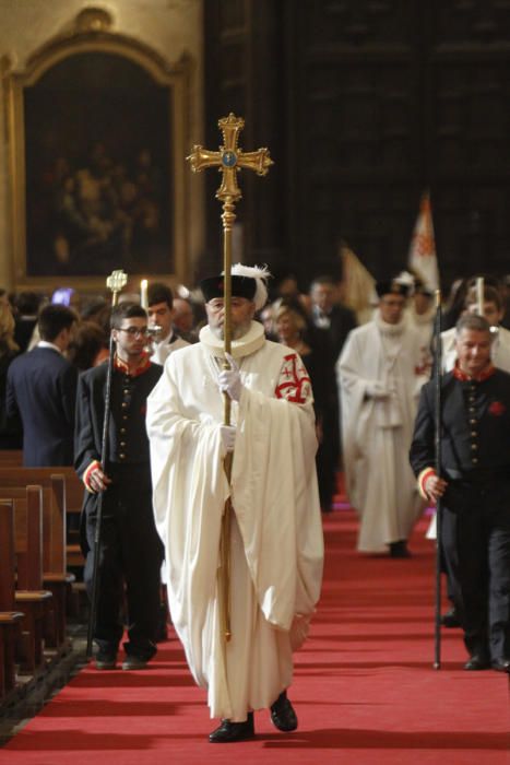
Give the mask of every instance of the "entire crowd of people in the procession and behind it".
<svg viewBox="0 0 510 765">
<path fill-rule="evenodd" d="M 294 730 L 292 655 L 319 598 L 321 513 L 343 470 L 363 553 L 411 557 L 416 520 L 441 501 L 446 623 L 463 629 L 465 669 L 509 672 L 505 283 L 462 280 L 441 308 L 440 423 L 437 311 L 416 274 L 379 281 L 358 325 L 330 274 L 306 294 L 286 274 L 270 299 L 266 270 L 233 267 L 229 352 L 224 286 L 214 275 L 175 297 L 150 281 L 146 306 L 128 290 L 114 309 L 72 289 L 43 302 L 0 295 L 0 448 L 23 448 L 26 466 L 74 464 L 83 480 L 97 669 L 117 666 L 126 626 L 122 668 L 155 656 L 163 576 L 191 672 L 222 720 L 211 742 L 252 737 L 263 707 Z"/>
</svg>

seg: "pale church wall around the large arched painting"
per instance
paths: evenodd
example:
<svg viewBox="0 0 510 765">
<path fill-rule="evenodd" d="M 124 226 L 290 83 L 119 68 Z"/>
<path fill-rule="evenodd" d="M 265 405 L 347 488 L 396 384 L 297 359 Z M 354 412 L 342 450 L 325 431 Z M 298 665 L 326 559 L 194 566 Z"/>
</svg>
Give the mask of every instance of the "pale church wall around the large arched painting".
<svg viewBox="0 0 510 765">
<path fill-rule="evenodd" d="M 112 17 L 111 32 L 149 46 L 173 64 L 187 55 L 191 61 L 188 92 L 191 148 L 202 134 L 202 0 L 0 0 L 0 59 L 3 66 L 23 71 L 31 57 L 56 36 L 72 28 L 76 15 L 86 8 L 107 11 Z M 2 67 L 3 69 L 3 67 Z M 1 98 L 4 104 L 3 83 Z M 14 274 L 11 254 L 9 150 L 5 108 L 0 110 L 0 285 L 12 289 Z M 203 248 L 202 179 L 188 184 L 187 237 L 188 258 L 193 263 Z M 192 266 L 187 268 L 192 272 Z"/>
</svg>

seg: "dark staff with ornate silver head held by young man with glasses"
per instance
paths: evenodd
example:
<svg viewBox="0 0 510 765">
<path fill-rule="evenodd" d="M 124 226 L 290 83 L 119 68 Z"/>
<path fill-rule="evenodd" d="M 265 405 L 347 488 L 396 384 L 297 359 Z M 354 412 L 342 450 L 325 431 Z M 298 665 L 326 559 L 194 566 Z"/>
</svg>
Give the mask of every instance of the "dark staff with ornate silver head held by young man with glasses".
<svg viewBox="0 0 510 765">
<path fill-rule="evenodd" d="M 128 282 L 127 274 L 119 270 L 112 271 L 112 273 L 106 280 L 106 286 L 111 291 L 111 307 L 115 308 L 117 305 L 117 297 L 119 292 L 126 286 Z M 109 356 L 108 356 L 108 370 L 106 375 L 106 390 L 105 390 L 105 414 L 103 417 L 103 434 L 100 444 L 100 468 L 103 472 L 106 472 L 106 460 L 107 460 L 107 448 L 108 448 L 108 427 L 110 420 L 110 398 L 111 398 L 111 372 L 114 368 L 114 355 L 115 355 L 115 342 L 112 332 L 110 330 L 110 344 L 109 344 Z M 100 527 L 103 523 L 103 492 L 97 494 L 97 516 L 96 516 L 96 528 L 94 531 L 94 564 L 92 573 L 92 597 L 91 597 L 91 612 L 88 615 L 88 628 L 86 635 L 86 657 L 90 659 L 92 657 L 92 642 L 94 637 L 94 627 L 96 623 L 96 611 L 97 611 L 97 596 L 98 596 L 98 585 L 99 585 L 99 545 L 100 545 Z"/>
</svg>

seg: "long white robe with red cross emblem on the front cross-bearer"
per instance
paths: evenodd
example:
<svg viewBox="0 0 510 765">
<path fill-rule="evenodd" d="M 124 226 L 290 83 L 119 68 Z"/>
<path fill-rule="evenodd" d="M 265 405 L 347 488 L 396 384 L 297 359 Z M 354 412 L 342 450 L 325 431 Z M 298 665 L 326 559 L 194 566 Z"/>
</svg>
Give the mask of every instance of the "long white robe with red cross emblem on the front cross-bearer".
<svg viewBox="0 0 510 765">
<path fill-rule="evenodd" d="M 173 353 L 147 400 L 157 530 L 174 626 L 212 717 L 269 707 L 293 674 L 320 593 L 322 522 L 312 396 L 299 356 L 251 323 L 232 353 L 244 385 L 232 486 L 223 468 L 217 375 L 223 342 L 209 327 Z M 217 599 L 221 522 L 232 496 L 232 633 L 224 651 Z"/>
</svg>

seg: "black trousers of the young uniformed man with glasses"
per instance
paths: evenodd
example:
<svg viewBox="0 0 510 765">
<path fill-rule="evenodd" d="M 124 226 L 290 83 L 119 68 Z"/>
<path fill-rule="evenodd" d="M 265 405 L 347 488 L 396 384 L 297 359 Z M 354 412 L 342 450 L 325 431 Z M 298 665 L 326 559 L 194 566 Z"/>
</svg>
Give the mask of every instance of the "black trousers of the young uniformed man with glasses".
<svg viewBox="0 0 510 765">
<path fill-rule="evenodd" d="M 112 484 L 103 497 L 99 582 L 94 639 L 104 652 L 116 654 L 127 624 L 127 654 L 150 659 L 161 613 L 163 545 L 152 509 L 151 476 L 146 466 L 109 470 Z M 85 505 L 86 555 L 84 580 L 92 598 L 97 497 Z M 126 611 L 124 611 L 126 607 Z"/>
</svg>

